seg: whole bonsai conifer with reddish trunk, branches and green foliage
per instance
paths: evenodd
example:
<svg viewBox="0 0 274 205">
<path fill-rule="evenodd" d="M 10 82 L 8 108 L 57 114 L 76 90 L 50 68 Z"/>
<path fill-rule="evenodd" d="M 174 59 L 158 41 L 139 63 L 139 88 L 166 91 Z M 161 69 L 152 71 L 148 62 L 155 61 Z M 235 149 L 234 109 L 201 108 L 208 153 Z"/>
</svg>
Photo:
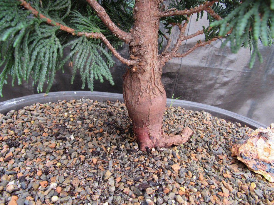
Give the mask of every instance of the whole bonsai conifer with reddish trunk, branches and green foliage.
<svg viewBox="0 0 274 205">
<path fill-rule="evenodd" d="M 230 42 L 232 52 L 249 47 L 252 66 L 256 56 L 261 60 L 259 41 L 273 41 L 273 9 L 274 0 L 1 0 L 0 92 L 8 75 L 12 85 L 15 79 L 21 84 L 31 76 L 41 92 L 46 81 L 48 92 L 56 71 L 68 60 L 72 83 L 78 70 L 83 88 L 87 83 L 93 90 L 94 78 L 102 82 L 105 77 L 113 84 L 109 67 L 114 55 L 127 67 L 123 96 L 140 149 L 184 143 L 192 134 L 189 128 L 172 136 L 162 130 L 162 67 L 216 40 Z M 206 14 L 209 24 L 186 35 L 194 14 L 196 20 Z M 174 44 L 172 29 L 179 30 Z M 196 36 L 201 40 L 178 52 L 183 41 Z M 123 43 L 129 46 L 129 59 L 116 50 Z M 70 52 L 63 57 L 64 48 Z"/>
</svg>

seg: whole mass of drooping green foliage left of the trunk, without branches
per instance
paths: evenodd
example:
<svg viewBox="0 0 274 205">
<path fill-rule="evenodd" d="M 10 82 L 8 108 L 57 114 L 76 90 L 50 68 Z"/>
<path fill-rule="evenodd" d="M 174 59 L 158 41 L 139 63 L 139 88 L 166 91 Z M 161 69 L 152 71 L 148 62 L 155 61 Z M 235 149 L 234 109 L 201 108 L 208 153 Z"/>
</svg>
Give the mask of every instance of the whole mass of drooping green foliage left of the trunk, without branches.
<svg viewBox="0 0 274 205">
<path fill-rule="evenodd" d="M 76 31 L 106 33 L 107 29 L 86 1 L 75 0 L 71 3 L 70 0 L 33 0 L 29 3 L 39 13 L 53 20 L 53 24 L 56 21 L 70 25 Z M 102 82 L 105 77 L 113 84 L 108 68 L 114 62 L 101 40 L 68 35 L 60 31 L 59 26 L 49 25 L 46 19 L 33 16 L 20 4 L 20 1 L 15 0 L 0 1 L 0 66 L 3 67 L 0 95 L 9 75 L 13 79 L 12 86 L 15 79 L 21 84 L 22 80 L 28 81 L 29 76 L 32 76 L 38 92 L 43 91 L 46 81 L 48 92 L 56 71 L 63 68 L 67 59 L 74 62 L 72 82 L 79 70 L 82 88 L 87 82 L 88 88 L 93 90 L 93 78 Z M 113 36 L 107 37 L 115 44 L 117 38 Z M 70 54 L 63 59 L 63 49 L 67 46 L 70 46 Z"/>
</svg>

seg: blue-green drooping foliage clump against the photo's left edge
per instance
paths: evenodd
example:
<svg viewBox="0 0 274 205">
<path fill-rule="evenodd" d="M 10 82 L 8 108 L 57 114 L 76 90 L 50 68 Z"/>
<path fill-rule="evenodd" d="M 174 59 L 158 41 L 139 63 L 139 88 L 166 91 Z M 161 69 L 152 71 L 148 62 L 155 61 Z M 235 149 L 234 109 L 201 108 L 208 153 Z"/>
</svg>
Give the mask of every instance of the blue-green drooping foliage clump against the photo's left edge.
<svg viewBox="0 0 274 205">
<path fill-rule="evenodd" d="M 0 57 L 4 58 L 0 63 L 0 66 L 4 65 L 0 74 L 0 94 L 8 74 L 13 78 L 12 85 L 15 78 L 19 84 L 22 80 L 27 80 L 31 71 L 34 82 L 38 80 L 39 73 L 43 74 L 38 83 L 39 89 L 46 76 L 51 85 L 51 74 L 55 73 L 57 55 L 62 55 L 62 48 L 54 34 L 58 27 L 45 24 L 45 19 L 33 18 L 19 4 L 19 1 L 0 2 Z M 52 42 L 56 44 L 48 49 L 48 43 Z"/>
</svg>

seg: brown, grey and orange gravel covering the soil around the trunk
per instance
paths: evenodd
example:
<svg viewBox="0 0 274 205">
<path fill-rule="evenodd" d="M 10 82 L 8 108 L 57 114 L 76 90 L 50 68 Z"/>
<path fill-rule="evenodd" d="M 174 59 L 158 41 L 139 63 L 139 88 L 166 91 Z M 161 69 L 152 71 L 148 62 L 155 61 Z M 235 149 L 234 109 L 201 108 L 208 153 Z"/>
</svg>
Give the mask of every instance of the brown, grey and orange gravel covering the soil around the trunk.
<svg viewBox="0 0 274 205">
<path fill-rule="evenodd" d="M 167 108 L 187 143 L 139 151 L 125 104 L 36 103 L 0 114 L 0 204 L 273 204 L 274 184 L 231 157 L 252 129 Z"/>
</svg>

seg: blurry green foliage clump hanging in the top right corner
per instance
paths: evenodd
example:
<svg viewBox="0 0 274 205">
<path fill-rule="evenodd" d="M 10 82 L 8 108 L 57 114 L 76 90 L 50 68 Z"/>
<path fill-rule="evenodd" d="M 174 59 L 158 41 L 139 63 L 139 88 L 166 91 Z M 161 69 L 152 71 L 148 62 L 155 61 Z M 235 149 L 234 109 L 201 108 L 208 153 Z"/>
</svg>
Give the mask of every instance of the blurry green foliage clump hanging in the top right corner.
<svg viewBox="0 0 274 205">
<path fill-rule="evenodd" d="M 218 35 L 226 38 L 223 46 L 230 42 L 231 51 L 235 53 L 242 46 L 250 48 L 250 67 L 253 66 L 256 56 L 262 61 L 258 40 L 265 46 L 270 46 L 273 42 L 274 11 L 271 9 L 272 3 L 273 0 L 246 0 L 241 4 L 235 4 L 235 8 L 222 20 L 211 21 L 210 26 L 215 30 L 219 28 Z"/>
</svg>

